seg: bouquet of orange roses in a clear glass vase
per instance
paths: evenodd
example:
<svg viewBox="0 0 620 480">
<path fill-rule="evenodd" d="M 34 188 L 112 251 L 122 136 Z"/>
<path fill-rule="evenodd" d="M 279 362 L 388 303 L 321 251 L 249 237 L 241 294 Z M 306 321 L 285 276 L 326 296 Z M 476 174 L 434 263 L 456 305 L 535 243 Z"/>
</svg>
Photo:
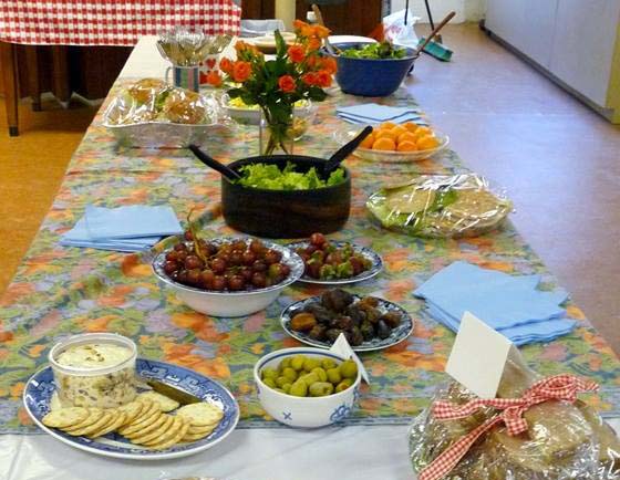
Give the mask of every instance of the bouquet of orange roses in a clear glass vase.
<svg viewBox="0 0 620 480">
<path fill-rule="evenodd" d="M 321 102 L 335 73 L 335 61 L 322 56 L 320 48 L 330 31 L 321 25 L 294 21 L 296 41 L 287 45 L 279 31 L 276 56 L 266 60 L 254 45 L 239 41 L 235 45 L 237 60 L 223 59 L 219 67 L 227 81 L 240 84 L 228 91 L 231 98 L 247 105 L 258 105 L 267 124 L 269 137 L 261 154 L 276 149 L 290 154 L 293 106 L 300 100 Z"/>
</svg>

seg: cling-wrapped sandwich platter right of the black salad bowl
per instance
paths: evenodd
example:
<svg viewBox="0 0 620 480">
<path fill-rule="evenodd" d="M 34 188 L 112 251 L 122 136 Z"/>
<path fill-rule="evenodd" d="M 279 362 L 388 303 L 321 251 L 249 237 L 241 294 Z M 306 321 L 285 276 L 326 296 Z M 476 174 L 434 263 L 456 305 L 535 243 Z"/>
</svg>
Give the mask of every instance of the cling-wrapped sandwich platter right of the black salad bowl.
<svg viewBox="0 0 620 480">
<path fill-rule="evenodd" d="M 366 201 L 384 227 L 416 237 L 473 237 L 497 228 L 513 209 L 476 174 L 421 175 L 385 186 Z"/>
</svg>

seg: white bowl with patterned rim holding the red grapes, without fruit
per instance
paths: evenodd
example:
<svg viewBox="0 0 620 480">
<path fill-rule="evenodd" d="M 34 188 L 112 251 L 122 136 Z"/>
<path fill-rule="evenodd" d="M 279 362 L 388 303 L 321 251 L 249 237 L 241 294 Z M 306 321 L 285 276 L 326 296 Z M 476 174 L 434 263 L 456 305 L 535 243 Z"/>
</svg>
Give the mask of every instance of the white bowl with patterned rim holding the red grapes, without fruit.
<svg viewBox="0 0 620 480">
<path fill-rule="evenodd" d="M 210 239 L 214 243 L 228 243 L 239 238 L 219 238 Z M 245 239 L 249 241 L 249 239 Z M 245 316 L 259 312 L 273 302 L 282 292 L 282 290 L 296 282 L 303 274 L 303 260 L 292 250 L 278 243 L 261 240 L 269 248 L 279 251 L 282 254 L 281 262 L 290 267 L 289 276 L 277 285 L 265 289 L 255 289 L 241 292 L 216 292 L 196 289 L 194 286 L 184 285 L 172 280 L 163 270 L 166 261 L 166 250 L 159 253 L 153 260 L 153 271 L 167 288 L 176 293 L 176 296 L 187 306 L 196 312 L 205 313 L 213 316 Z"/>
</svg>

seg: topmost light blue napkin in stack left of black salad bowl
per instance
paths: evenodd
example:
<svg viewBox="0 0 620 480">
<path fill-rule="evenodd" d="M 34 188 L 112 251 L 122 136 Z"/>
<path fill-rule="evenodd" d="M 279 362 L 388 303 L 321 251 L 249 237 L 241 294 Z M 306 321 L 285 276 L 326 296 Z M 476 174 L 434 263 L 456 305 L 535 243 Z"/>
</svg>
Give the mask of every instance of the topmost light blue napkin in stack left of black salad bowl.
<svg viewBox="0 0 620 480">
<path fill-rule="evenodd" d="M 87 206 L 84 219 L 90 237 L 95 240 L 167 237 L 183 232 L 174 210 L 167 205 Z"/>
</svg>

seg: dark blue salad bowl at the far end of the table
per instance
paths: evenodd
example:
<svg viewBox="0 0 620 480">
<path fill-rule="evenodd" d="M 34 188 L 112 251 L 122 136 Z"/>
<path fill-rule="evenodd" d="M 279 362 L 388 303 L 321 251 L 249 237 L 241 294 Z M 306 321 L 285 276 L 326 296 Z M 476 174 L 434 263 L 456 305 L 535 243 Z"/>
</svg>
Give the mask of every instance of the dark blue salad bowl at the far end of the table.
<svg viewBox="0 0 620 480">
<path fill-rule="evenodd" d="M 340 50 L 348 50 L 366 43 L 337 43 Z M 333 56 L 338 63 L 335 81 L 344 93 L 361 96 L 388 96 L 393 94 L 407 72 L 412 69 L 414 51 L 406 49 L 404 59 L 350 59 L 348 56 Z"/>
</svg>

